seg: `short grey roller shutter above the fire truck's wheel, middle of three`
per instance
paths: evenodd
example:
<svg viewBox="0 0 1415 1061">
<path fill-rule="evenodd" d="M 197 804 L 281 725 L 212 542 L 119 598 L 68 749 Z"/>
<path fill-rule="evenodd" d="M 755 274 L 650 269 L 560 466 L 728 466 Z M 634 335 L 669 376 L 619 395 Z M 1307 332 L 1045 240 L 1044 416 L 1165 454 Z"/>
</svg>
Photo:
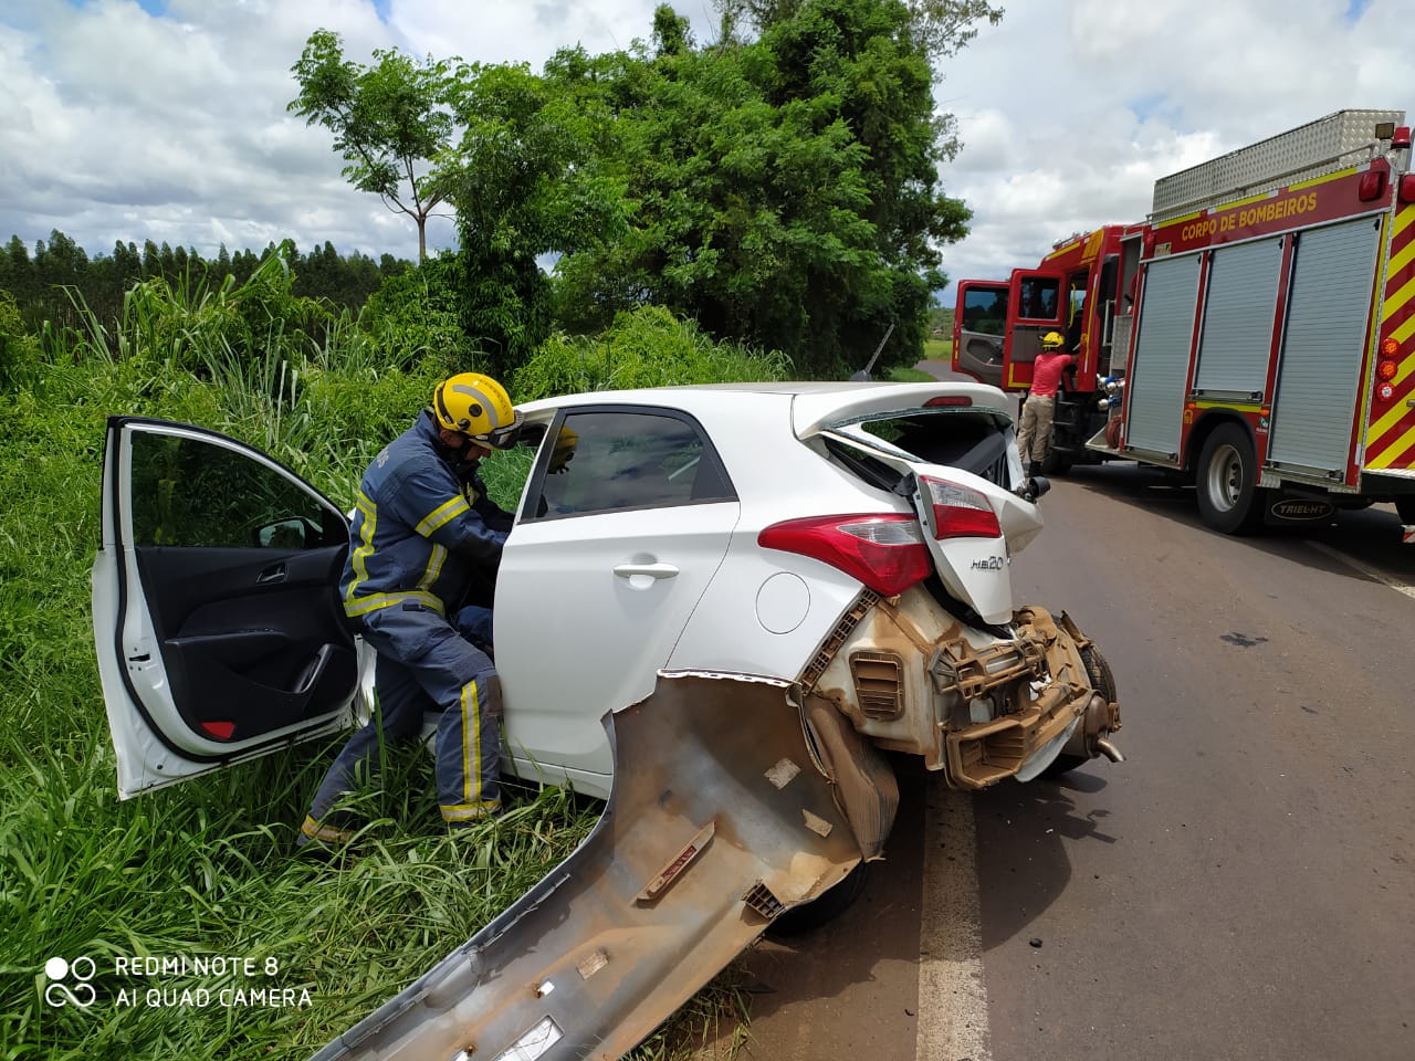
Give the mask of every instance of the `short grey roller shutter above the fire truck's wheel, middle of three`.
<svg viewBox="0 0 1415 1061">
<path fill-rule="evenodd" d="M 1200 393 L 1254 400 L 1262 393 L 1281 274 L 1281 239 L 1213 253 L 1194 379 Z"/>
</svg>

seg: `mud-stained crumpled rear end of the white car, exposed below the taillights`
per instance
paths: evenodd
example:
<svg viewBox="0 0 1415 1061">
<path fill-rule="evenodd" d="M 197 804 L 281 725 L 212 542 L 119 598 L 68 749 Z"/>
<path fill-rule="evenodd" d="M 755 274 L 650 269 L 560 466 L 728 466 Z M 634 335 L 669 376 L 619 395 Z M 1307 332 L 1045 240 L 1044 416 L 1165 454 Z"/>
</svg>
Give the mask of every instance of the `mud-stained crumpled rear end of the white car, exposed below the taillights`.
<svg viewBox="0 0 1415 1061">
<path fill-rule="evenodd" d="M 961 624 L 921 587 L 866 593 L 802 675 L 874 744 L 921 755 L 952 788 L 1030 779 L 1058 755 L 1119 753 L 1119 705 L 1094 688 L 1091 641 L 1065 614 L 1019 608 L 1013 637 Z"/>
</svg>

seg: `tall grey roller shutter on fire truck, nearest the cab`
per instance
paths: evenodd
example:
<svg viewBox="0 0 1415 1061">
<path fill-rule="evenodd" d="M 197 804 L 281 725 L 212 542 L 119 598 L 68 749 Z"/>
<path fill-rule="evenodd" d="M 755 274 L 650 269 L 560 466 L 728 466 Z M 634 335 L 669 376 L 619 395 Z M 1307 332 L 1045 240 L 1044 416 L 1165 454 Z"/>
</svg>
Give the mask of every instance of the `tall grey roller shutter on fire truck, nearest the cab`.
<svg viewBox="0 0 1415 1061">
<path fill-rule="evenodd" d="M 1165 257 L 1145 269 L 1125 443 L 1152 453 L 1179 453 L 1189 376 L 1189 344 L 1199 296 L 1199 255 Z"/>
</svg>

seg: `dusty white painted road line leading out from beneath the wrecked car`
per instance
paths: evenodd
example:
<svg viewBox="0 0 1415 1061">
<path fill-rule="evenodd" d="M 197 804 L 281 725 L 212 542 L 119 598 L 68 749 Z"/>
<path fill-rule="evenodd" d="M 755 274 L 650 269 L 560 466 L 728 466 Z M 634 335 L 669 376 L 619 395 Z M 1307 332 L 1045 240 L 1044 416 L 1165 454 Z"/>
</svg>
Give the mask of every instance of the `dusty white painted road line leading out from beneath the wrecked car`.
<svg viewBox="0 0 1415 1061">
<path fill-rule="evenodd" d="M 930 778 L 916 1061 L 992 1061 L 972 796 Z M 925 953 L 927 952 L 927 953 Z"/>
</svg>

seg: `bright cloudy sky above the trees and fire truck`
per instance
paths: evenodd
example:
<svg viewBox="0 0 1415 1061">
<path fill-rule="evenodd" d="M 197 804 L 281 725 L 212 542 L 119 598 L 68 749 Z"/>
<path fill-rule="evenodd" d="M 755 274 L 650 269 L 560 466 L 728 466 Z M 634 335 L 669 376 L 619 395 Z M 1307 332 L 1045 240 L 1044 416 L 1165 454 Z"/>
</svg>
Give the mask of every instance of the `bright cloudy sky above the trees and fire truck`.
<svg viewBox="0 0 1415 1061">
<path fill-rule="evenodd" d="M 1409 0 L 1002 0 L 944 59 L 962 149 L 947 194 L 974 212 L 955 280 L 1142 221 L 1157 177 L 1344 108 L 1409 109 Z M 286 112 L 290 66 L 330 28 L 375 48 L 528 62 L 625 48 L 655 0 L 3 0 L 0 242 L 58 229 L 91 256 L 144 239 L 215 256 L 304 249 L 413 259 L 413 222 L 340 175 L 331 136 Z M 674 0 L 710 42 L 712 0 Z M 1408 48 L 1408 45 L 1404 45 Z M 1407 93 L 1412 98 L 1407 98 Z M 434 219 L 433 248 L 453 246 Z M 944 294 L 949 301 L 951 296 Z"/>
</svg>

